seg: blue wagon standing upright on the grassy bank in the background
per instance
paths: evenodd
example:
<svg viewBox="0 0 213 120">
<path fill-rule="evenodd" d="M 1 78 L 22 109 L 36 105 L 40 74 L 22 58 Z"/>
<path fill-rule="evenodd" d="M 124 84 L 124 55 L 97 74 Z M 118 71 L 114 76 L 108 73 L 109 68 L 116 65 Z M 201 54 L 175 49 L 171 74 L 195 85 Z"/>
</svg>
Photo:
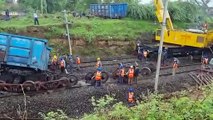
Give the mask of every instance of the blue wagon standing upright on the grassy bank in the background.
<svg viewBox="0 0 213 120">
<path fill-rule="evenodd" d="M 90 13 L 99 17 L 124 18 L 127 8 L 127 3 L 90 4 Z"/>
</svg>

